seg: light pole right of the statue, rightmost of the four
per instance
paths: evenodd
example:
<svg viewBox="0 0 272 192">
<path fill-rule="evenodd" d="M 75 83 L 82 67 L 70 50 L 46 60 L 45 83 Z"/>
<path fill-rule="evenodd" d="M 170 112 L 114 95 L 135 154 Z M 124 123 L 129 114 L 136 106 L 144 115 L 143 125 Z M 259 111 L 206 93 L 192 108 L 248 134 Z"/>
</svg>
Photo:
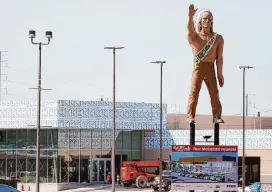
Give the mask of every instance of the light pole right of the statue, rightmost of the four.
<svg viewBox="0 0 272 192">
<path fill-rule="evenodd" d="M 240 69 L 243 69 L 243 157 L 242 157 L 242 188 L 245 192 L 245 73 L 246 69 L 251 69 L 250 66 L 239 66 Z"/>
</svg>

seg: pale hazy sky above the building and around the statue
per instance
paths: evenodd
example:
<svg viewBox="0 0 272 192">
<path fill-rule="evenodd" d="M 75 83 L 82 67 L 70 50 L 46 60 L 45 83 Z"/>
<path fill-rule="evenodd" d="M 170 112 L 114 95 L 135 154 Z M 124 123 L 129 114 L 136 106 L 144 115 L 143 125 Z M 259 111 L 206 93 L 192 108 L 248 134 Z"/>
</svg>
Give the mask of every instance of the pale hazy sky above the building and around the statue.
<svg viewBox="0 0 272 192">
<path fill-rule="evenodd" d="M 202 0 L 9 0 L 1 1 L 0 50 L 9 68 L 2 68 L 8 95 L 3 100 L 37 98 L 38 47 L 36 40 L 53 39 L 42 53 L 42 99 L 112 99 L 112 53 L 104 46 L 124 46 L 117 52 L 117 101 L 159 102 L 160 68 L 150 64 L 166 60 L 163 70 L 163 102 L 178 104 L 186 112 L 192 71 L 192 52 L 186 39 L 188 6 L 209 8 L 214 30 L 225 39 L 225 86 L 220 88 L 223 114 L 242 113 L 242 71 L 246 73 L 249 114 L 271 115 L 270 50 L 272 1 Z M 5 79 L 5 77 L 3 77 Z M 5 92 L 4 90 L 2 92 Z M 211 114 L 210 99 L 202 85 L 198 114 Z"/>
</svg>

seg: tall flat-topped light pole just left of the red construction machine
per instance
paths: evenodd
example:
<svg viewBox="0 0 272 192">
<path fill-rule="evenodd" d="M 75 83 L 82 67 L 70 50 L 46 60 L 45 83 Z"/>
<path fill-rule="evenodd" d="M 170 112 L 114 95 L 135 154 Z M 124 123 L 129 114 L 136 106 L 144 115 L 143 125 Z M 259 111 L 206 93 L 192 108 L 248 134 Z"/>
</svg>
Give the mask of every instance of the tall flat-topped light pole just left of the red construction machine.
<svg viewBox="0 0 272 192">
<path fill-rule="evenodd" d="M 104 47 L 113 51 L 113 128 L 112 128 L 112 146 L 111 146 L 111 181 L 112 192 L 115 192 L 115 52 L 116 49 L 124 49 L 124 47 Z"/>
</svg>

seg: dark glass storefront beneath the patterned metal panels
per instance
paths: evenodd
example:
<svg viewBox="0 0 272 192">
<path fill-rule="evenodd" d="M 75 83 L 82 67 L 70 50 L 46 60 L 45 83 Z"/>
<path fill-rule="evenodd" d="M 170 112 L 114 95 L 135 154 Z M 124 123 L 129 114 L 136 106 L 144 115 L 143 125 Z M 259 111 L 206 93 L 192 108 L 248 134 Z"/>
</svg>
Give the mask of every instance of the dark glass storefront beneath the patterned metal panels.
<svg viewBox="0 0 272 192">
<path fill-rule="evenodd" d="M 122 161 L 140 160 L 141 131 L 117 130 L 116 171 Z M 111 131 L 42 129 L 40 182 L 104 182 L 111 169 Z M 36 130 L 0 130 L 0 179 L 35 182 Z"/>
</svg>

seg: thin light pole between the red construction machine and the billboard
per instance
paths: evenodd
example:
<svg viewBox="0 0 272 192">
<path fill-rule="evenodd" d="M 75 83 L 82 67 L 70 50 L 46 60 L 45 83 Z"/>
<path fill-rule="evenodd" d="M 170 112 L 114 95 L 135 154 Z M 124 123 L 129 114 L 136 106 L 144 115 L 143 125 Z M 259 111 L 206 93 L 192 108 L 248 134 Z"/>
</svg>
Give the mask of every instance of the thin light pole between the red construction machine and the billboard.
<svg viewBox="0 0 272 192">
<path fill-rule="evenodd" d="M 161 65 L 161 77 L 160 77 L 160 191 L 162 191 L 162 67 L 166 61 L 152 61 Z"/>
</svg>

